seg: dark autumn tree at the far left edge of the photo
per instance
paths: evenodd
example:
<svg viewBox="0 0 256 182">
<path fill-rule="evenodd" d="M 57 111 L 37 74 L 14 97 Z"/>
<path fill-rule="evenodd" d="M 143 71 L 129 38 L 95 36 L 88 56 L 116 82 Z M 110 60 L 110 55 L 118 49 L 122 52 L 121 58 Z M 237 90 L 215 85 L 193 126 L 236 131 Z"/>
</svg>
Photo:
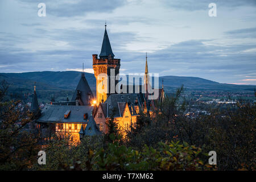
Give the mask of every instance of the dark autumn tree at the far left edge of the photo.
<svg viewBox="0 0 256 182">
<path fill-rule="evenodd" d="M 20 101 L 3 101 L 8 86 L 0 86 L 0 170 L 29 169 L 40 149 L 38 132 L 29 129 L 31 114 Z"/>
</svg>

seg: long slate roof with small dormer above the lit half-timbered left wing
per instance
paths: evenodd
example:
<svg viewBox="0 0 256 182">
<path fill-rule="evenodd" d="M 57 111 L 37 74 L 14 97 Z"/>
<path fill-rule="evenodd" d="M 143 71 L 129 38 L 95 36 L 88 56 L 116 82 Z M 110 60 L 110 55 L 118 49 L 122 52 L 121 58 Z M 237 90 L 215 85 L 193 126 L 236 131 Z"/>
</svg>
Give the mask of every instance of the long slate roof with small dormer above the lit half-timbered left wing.
<svg viewBox="0 0 256 182">
<path fill-rule="evenodd" d="M 88 119 L 84 119 L 84 114 L 89 116 L 92 113 L 93 106 L 72 106 L 72 105 L 49 105 L 47 104 L 42 110 L 39 122 L 65 122 L 65 123 L 87 123 Z M 67 110 L 70 113 L 67 118 L 64 114 Z"/>
</svg>

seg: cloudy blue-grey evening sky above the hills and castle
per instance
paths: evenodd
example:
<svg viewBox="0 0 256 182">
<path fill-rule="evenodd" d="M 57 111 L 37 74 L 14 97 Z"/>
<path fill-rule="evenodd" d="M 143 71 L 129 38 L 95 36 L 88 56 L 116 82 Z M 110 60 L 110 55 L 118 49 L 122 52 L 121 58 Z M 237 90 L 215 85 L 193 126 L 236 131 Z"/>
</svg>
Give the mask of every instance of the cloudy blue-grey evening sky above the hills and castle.
<svg viewBox="0 0 256 182">
<path fill-rule="evenodd" d="M 255 0 L 1 0 L 0 72 L 93 73 L 105 22 L 121 73 L 256 85 Z"/>
</svg>

